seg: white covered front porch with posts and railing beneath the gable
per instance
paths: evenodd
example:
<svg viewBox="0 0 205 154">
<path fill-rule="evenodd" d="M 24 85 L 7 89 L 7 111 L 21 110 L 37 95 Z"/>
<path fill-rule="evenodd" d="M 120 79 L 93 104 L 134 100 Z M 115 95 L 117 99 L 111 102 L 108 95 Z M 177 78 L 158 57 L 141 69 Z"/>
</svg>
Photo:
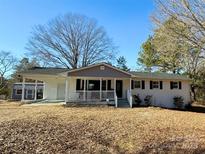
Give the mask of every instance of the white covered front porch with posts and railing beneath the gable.
<svg viewBox="0 0 205 154">
<path fill-rule="evenodd" d="M 67 77 L 66 103 L 111 103 L 118 107 L 118 100 L 128 100 L 132 107 L 131 78 Z"/>
</svg>

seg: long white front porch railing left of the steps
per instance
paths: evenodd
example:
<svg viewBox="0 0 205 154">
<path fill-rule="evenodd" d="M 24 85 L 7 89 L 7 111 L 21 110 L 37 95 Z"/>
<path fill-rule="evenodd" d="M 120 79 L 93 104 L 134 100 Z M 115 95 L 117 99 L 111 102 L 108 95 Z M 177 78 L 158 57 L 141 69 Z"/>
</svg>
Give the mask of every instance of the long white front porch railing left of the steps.
<svg viewBox="0 0 205 154">
<path fill-rule="evenodd" d="M 69 92 L 69 101 L 106 101 L 114 100 L 115 95 L 113 90 L 107 91 L 83 91 L 78 90 Z"/>
</svg>

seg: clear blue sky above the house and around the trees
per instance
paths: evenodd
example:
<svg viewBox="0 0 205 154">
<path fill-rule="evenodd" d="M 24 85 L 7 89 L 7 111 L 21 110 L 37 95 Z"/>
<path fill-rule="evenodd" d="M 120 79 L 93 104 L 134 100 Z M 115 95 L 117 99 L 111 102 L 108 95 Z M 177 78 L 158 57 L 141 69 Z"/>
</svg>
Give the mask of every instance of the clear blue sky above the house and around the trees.
<svg viewBox="0 0 205 154">
<path fill-rule="evenodd" d="M 152 0 L 0 0 L 0 50 L 23 57 L 34 25 L 72 12 L 97 19 L 118 46 L 118 56 L 134 69 L 141 44 L 152 33 L 153 10 Z"/>
</svg>

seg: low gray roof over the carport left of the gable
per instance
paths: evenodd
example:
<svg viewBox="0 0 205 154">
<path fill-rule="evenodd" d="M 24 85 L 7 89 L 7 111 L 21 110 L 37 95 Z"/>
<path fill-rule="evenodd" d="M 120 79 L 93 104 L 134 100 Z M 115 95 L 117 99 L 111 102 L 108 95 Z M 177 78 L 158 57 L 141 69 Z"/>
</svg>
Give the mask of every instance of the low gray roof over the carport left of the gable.
<svg viewBox="0 0 205 154">
<path fill-rule="evenodd" d="M 19 74 L 42 74 L 42 75 L 58 75 L 68 71 L 68 68 L 52 68 L 52 67 L 33 67 L 29 70 L 20 72 Z"/>
</svg>

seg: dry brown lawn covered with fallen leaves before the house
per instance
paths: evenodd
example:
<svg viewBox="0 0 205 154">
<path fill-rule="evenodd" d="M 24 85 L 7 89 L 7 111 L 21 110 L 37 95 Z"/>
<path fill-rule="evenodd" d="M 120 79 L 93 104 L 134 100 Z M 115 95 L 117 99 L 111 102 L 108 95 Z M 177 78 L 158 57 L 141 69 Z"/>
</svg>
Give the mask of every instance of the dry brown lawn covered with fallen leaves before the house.
<svg viewBox="0 0 205 154">
<path fill-rule="evenodd" d="M 205 152 L 205 113 L 0 104 L 0 153 L 158 152 Z"/>
</svg>

